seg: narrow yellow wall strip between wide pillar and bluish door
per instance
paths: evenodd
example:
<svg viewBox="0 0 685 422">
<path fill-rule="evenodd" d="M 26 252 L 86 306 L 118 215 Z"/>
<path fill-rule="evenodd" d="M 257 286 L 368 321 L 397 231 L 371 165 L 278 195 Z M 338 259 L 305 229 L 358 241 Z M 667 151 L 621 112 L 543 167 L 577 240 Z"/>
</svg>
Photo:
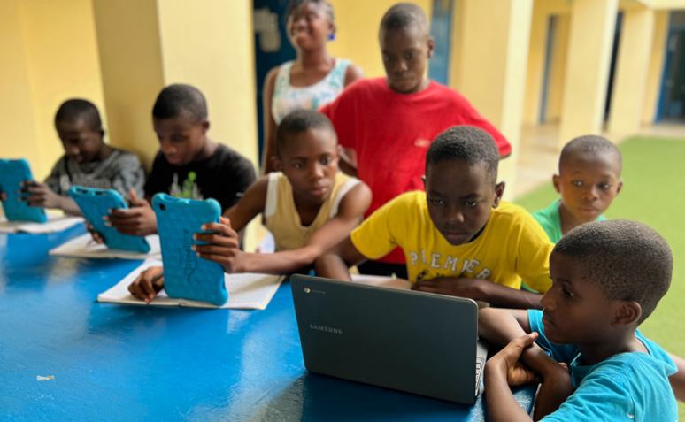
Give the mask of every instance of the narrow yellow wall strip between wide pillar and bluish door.
<svg viewBox="0 0 685 422">
<path fill-rule="evenodd" d="M 550 15 L 544 11 L 540 2 L 535 2 L 533 7 L 533 19 L 530 27 L 530 45 L 528 47 L 526 74 L 526 102 L 523 110 L 523 121 L 527 125 L 535 125 L 540 119 L 549 26 Z"/>
</svg>

